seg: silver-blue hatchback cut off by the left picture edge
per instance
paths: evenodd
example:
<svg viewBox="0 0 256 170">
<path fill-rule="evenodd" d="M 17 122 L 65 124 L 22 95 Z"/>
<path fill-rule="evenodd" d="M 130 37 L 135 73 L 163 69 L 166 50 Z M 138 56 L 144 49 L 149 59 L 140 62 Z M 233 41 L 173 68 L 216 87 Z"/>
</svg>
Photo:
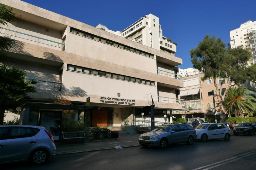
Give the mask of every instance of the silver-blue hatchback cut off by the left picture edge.
<svg viewBox="0 0 256 170">
<path fill-rule="evenodd" d="M 41 126 L 1 125 L 0 163 L 30 161 L 43 164 L 55 155 L 53 136 Z"/>
</svg>

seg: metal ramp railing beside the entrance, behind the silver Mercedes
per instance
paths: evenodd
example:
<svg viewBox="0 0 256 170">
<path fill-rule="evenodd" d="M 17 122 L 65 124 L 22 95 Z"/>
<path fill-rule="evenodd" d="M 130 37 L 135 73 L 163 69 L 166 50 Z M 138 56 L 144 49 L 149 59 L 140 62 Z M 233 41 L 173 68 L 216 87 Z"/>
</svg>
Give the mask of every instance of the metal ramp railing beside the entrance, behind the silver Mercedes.
<svg viewBox="0 0 256 170">
<path fill-rule="evenodd" d="M 155 121 L 155 126 L 164 124 L 165 122 Z M 168 122 L 167 122 L 168 123 Z M 151 127 L 151 120 L 121 120 L 121 126 L 146 126 Z"/>
</svg>

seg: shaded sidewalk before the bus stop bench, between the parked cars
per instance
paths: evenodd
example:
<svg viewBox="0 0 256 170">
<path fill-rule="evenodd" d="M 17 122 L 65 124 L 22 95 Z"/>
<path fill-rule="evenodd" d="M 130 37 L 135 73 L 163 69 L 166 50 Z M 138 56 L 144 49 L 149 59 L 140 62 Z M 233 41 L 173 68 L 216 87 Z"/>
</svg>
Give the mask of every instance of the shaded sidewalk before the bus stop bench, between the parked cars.
<svg viewBox="0 0 256 170">
<path fill-rule="evenodd" d="M 76 144 L 56 143 L 56 155 L 90 152 L 96 150 L 115 149 L 115 146 L 139 146 L 138 138 L 141 134 L 119 134 L 119 139 L 106 139 Z"/>
</svg>

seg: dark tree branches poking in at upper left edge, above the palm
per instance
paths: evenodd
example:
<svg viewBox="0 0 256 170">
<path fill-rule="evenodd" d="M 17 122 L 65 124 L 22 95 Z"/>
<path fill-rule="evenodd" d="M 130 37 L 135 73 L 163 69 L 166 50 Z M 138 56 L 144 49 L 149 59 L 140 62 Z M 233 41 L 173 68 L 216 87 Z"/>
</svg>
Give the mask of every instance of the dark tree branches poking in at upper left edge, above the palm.
<svg viewBox="0 0 256 170">
<path fill-rule="evenodd" d="M 0 4 L 0 24 L 7 26 L 7 23 L 12 21 L 14 18 L 14 13 L 11 11 L 11 8 L 7 8 L 3 4 Z M 3 51 L 9 50 L 15 44 L 16 41 L 14 39 L 7 36 L 0 36 L 0 57 L 5 55 Z"/>
</svg>

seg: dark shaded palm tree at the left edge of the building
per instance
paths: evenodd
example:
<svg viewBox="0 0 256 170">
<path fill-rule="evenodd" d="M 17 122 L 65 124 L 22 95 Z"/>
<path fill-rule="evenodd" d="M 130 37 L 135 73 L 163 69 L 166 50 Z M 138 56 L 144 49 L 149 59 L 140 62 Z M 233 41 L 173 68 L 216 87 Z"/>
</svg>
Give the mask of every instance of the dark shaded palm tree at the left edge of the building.
<svg viewBox="0 0 256 170">
<path fill-rule="evenodd" d="M 32 99 L 28 93 L 36 92 L 33 84 L 36 80 L 26 80 L 24 71 L 2 65 L 0 67 L 0 125 L 3 125 L 4 111 L 7 107 L 7 100 L 18 101 L 20 99 Z"/>
</svg>

